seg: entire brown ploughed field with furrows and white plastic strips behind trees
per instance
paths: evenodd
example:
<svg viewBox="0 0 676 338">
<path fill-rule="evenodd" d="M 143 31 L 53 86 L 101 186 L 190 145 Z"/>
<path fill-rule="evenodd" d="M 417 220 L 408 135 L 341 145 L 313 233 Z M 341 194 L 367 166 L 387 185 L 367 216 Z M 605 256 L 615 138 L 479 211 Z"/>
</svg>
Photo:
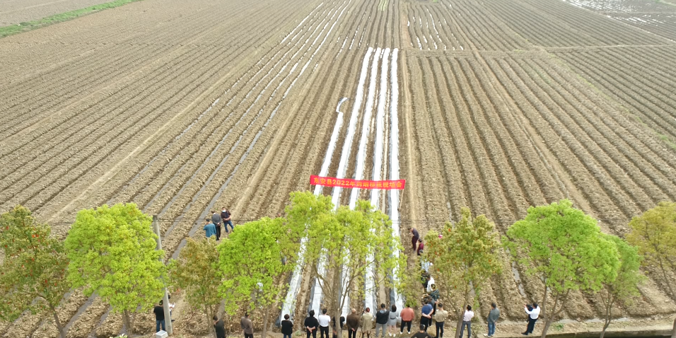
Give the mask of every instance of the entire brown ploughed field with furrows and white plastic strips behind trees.
<svg viewBox="0 0 676 338">
<path fill-rule="evenodd" d="M 0 0 L 0 25 L 31 6 L 48 4 Z M 158 216 L 168 257 L 203 235 L 210 210 L 241 224 L 282 213 L 296 190 L 370 199 L 406 255 L 410 228 L 442 228 L 464 206 L 504 234 L 528 206 L 568 198 L 624 235 L 632 216 L 676 200 L 675 17 L 652 0 L 144 0 L 5 37 L 0 210 L 28 206 L 64 238 L 79 209 L 134 202 Z M 310 175 L 407 187 L 322 189 Z M 522 328 L 544 284 L 500 259 L 511 271 L 477 313 L 497 301 Z M 280 304 L 296 320 L 322 301 L 309 264 Z M 641 299 L 617 315 L 674 315 L 669 281 L 645 272 Z M 602 315 L 596 296 L 572 297 L 569 323 Z M 390 301 L 402 300 L 381 289 L 349 304 Z M 178 302 L 177 329 L 199 334 Z M 59 313 L 69 337 L 123 330 L 81 290 Z M 151 332 L 151 313 L 136 326 Z M 0 325 L 0 337 L 56 334 L 33 315 Z"/>
</svg>

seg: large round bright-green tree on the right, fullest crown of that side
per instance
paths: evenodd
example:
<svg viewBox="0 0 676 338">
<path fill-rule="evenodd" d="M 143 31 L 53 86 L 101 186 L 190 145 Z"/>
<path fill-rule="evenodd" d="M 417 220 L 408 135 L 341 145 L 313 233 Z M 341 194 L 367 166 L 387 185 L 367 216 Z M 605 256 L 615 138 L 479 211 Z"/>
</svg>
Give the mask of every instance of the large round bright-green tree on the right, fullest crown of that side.
<svg viewBox="0 0 676 338">
<path fill-rule="evenodd" d="M 597 292 L 602 282 L 617 272 L 619 259 L 614 243 L 604 238 L 596 220 L 573 203 L 562 199 L 545 206 L 531 206 L 528 215 L 507 231 L 513 255 L 544 281 L 541 302 L 546 322 L 542 338 L 561 313 L 573 290 Z M 552 293 L 554 305 L 547 315 L 547 296 Z"/>
</svg>

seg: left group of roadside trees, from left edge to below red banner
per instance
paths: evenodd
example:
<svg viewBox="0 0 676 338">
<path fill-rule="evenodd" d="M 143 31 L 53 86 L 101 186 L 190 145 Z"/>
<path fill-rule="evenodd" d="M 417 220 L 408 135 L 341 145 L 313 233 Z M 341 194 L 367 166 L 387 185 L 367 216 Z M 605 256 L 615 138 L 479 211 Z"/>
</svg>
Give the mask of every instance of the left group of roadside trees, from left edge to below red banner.
<svg viewBox="0 0 676 338">
<path fill-rule="evenodd" d="M 339 317 L 348 293 L 363 295 L 363 276 L 375 271 L 375 286 L 392 286 L 388 274 L 404 271 L 405 259 L 390 221 L 368 202 L 355 210 L 337 209 L 330 197 L 295 192 L 286 217 L 262 218 L 238 226 L 228 238 L 189 239 L 178 260 L 163 262 L 156 250 L 152 218 L 135 204 L 115 204 L 78 212 L 64 241 L 49 235 L 30 211 L 16 206 L 1 216 L 0 320 L 16 320 L 25 311 L 48 311 L 62 338 L 57 307 L 71 288 L 98 295 L 123 314 L 132 333 L 136 313 L 148 311 L 163 288 L 185 291 L 187 303 L 206 317 L 218 305 L 235 315 L 262 311 L 263 332 L 284 298 L 286 277 L 308 264 L 325 291 L 325 306 Z M 325 262 L 318 269 L 317 262 Z M 304 262 L 304 263 L 303 263 Z M 342 278 L 337 278 L 341 276 Z M 362 286 L 361 288 L 357 286 Z"/>
</svg>

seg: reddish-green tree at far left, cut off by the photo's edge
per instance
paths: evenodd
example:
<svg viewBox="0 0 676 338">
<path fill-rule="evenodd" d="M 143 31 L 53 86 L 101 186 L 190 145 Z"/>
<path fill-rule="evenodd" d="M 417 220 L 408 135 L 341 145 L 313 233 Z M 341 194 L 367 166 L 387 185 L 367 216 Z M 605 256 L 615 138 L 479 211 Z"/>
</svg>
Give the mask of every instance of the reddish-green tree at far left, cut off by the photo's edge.
<svg viewBox="0 0 676 338">
<path fill-rule="evenodd" d="M 51 228 L 40 224 L 30 210 L 15 206 L 0 216 L 0 320 L 13 321 L 25 310 L 49 310 L 59 335 L 66 332 L 57 306 L 69 289 L 68 258 L 60 240 L 49 236 Z"/>
</svg>

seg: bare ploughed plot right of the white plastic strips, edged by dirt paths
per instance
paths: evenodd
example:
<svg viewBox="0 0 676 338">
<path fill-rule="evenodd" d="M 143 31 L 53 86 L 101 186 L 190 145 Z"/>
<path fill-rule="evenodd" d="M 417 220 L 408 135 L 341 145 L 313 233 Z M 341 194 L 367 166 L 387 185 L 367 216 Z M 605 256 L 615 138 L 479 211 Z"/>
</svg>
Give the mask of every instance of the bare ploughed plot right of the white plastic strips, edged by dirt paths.
<svg viewBox="0 0 676 338">
<path fill-rule="evenodd" d="M 561 197 L 609 218 L 627 206 L 636 212 L 634 204 L 642 209 L 660 198 L 672 198 L 671 176 L 651 163 L 662 160 L 651 149 L 650 137 L 625 123 L 622 115 L 603 113 L 608 103 L 547 59 L 416 57 L 408 66 L 414 110 L 426 112 L 415 115 L 414 128 L 418 151 L 430 160 L 416 163 L 426 177 L 419 184 L 436 200 L 423 205 L 428 218 L 443 219 L 438 209 L 450 209 L 453 218 L 459 206 L 470 206 L 494 219 L 504 232 L 523 216 L 525 206 Z M 491 81 L 494 77 L 499 82 Z M 598 116 L 602 114 L 610 116 Z M 624 129 L 627 126 L 631 129 Z M 546 136 L 556 134 L 559 140 Z M 622 177 L 622 182 L 614 177 Z M 605 196 L 598 194 L 603 190 Z M 626 201 L 617 199 L 623 191 L 629 196 Z M 605 209 L 614 203 L 616 207 Z M 603 226 L 622 233 L 621 226 Z M 508 264 L 504 253 L 501 257 Z M 521 310 L 513 304 L 538 297 L 543 288 L 541 281 L 523 274 L 523 267 L 512 266 L 514 278 L 503 274 L 492 279 L 482 304 L 499 299 L 506 315 L 518 318 Z M 654 313 L 668 311 L 661 305 L 663 293 L 646 292 L 644 301 L 655 306 Z M 575 293 L 566 314 L 595 317 L 602 311 L 594 304 L 595 296 Z M 630 314 L 640 310 L 627 308 Z"/>
</svg>

